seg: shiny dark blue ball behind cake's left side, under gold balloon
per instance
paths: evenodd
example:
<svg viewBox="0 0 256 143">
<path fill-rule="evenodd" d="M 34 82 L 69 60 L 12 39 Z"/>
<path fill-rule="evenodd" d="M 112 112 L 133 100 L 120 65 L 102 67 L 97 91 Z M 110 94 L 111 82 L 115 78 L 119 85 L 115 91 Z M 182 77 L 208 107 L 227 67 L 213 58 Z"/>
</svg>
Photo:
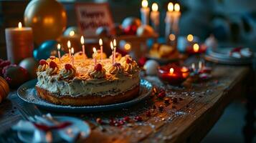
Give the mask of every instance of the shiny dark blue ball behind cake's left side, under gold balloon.
<svg viewBox="0 0 256 143">
<path fill-rule="evenodd" d="M 44 41 L 38 49 L 34 49 L 33 55 L 34 59 L 40 60 L 40 59 L 48 59 L 49 56 L 58 56 L 57 51 L 57 41 L 55 40 L 49 40 Z M 60 54 L 65 54 L 62 49 L 60 49 Z"/>
</svg>

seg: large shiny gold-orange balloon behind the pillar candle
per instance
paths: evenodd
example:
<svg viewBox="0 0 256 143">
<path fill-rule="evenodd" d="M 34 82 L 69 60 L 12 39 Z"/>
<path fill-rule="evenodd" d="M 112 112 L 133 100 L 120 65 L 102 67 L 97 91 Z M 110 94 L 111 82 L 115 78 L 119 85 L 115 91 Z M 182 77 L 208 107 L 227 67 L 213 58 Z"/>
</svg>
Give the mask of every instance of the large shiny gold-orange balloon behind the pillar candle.
<svg viewBox="0 0 256 143">
<path fill-rule="evenodd" d="M 62 34 L 67 26 L 67 14 L 56 0 L 33 0 L 25 9 L 24 24 L 32 27 L 35 43 L 41 44 Z"/>
</svg>

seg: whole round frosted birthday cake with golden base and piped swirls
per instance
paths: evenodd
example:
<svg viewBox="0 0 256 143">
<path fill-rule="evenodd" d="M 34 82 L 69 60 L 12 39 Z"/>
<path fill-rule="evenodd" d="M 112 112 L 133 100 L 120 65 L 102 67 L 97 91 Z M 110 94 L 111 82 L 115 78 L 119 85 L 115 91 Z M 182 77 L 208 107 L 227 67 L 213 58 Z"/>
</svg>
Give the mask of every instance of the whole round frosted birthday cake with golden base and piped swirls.
<svg viewBox="0 0 256 143">
<path fill-rule="evenodd" d="M 98 61 L 98 62 L 97 62 Z M 131 56 L 87 59 L 50 57 L 39 61 L 37 96 L 53 104 L 85 106 L 124 102 L 138 96 L 139 68 Z"/>
</svg>

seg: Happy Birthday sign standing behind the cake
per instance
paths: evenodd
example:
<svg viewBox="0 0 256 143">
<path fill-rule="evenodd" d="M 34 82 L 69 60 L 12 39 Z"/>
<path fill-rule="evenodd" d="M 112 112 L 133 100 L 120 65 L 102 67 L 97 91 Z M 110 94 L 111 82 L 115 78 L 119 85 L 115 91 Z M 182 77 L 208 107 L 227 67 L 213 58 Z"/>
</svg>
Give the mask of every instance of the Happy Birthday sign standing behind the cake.
<svg viewBox="0 0 256 143">
<path fill-rule="evenodd" d="M 107 3 L 75 4 L 78 27 L 86 37 L 96 36 L 95 31 L 100 26 L 113 26 L 113 19 Z"/>
</svg>

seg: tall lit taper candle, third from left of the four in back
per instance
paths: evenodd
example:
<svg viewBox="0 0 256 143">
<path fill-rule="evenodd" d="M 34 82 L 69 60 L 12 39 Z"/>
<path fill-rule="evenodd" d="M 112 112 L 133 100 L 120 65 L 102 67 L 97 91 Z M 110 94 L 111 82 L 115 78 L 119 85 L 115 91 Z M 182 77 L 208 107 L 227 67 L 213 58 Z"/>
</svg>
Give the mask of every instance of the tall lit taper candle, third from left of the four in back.
<svg viewBox="0 0 256 143">
<path fill-rule="evenodd" d="M 168 4 L 168 11 L 166 12 L 166 37 L 168 37 L 171 34 L 171 24 L 172 24 L 172 13 L 174 11 L 174 4 L 169 2 Z"/>
</svg>

